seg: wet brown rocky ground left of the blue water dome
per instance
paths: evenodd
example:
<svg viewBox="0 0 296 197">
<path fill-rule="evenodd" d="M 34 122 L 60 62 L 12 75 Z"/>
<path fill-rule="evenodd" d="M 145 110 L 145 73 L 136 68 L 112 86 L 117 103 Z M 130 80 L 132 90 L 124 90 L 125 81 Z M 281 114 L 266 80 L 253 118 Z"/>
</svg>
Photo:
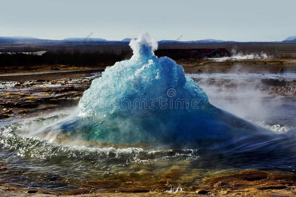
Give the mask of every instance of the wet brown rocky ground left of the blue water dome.
<svg viewBox="0 0 296 197">
<path fill-rule="evenodd" d="M 93 72 L 2 76 L 12 81 L 0 82 L 0 118 L 28 117 L 76 106 L 83 91 L 98 77 L 99 72 Z"/>
</svg>

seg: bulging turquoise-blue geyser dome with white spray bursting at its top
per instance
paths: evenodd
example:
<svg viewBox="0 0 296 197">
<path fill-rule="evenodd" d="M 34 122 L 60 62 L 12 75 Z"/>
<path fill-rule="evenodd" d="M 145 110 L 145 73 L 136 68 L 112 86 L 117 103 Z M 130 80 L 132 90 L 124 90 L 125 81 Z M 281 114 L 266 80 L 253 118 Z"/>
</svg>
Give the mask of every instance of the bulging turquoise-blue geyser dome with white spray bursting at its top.
<svg viewBox="0 0 296 197">
<path fill-rule="evenodd" d="M 180 65 L 154 55 L 157 42 L 148 35 L 130 46 L 132 58 L 116 62 L 93 80 L 76 114 L 58 124 L 62 131 L 99 142 L 192 147 L 257 130 L 212 106 Z"/>
</svg>

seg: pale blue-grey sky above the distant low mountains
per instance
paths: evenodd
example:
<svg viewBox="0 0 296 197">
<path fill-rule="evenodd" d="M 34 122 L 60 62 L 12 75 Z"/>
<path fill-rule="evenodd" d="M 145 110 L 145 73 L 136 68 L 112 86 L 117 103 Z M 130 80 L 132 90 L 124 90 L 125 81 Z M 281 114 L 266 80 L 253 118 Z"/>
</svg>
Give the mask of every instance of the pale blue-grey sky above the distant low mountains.
<svg viewBox="0 0 296 197">
<path fill-rule="evenodd" d="M 0 36 L 281 41 L 296 0 L 0 0 Z"/>
</svg>

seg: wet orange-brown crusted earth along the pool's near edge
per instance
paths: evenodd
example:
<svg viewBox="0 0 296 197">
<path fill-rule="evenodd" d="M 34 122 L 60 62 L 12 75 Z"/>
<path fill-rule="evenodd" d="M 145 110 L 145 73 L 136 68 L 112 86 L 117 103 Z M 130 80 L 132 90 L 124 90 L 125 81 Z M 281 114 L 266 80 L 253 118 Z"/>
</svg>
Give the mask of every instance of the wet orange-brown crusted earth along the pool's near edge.
<svg viewBox="0 0 296 197">
<path fill-rule="evenodd" d="M 101 188 L 110 188 L 117 186 L 116 190 L 109 190 L 107 192 L 93 193 L 89 189 L 78 189 L 70 192 L 66 192 L 62 195 L 72 196 L 78 195 L 83 197 L 100 197 L 100 196 L 124 196 L 124 197 L 149 197 L 149 196 L 239 196 L 239 197 L 294 197 L 296 195 L 296 175 L 283 172 L 269 172 L 261 170 L 244 170 L 238 173 L 217 176 L 203 179 L 203 187 L 195 188 L 191 191 L 178 191 L 169 193 L 167 190 L 162 189 L 161 185 L 165 185 L 166 181 L 173 181 L 178 179 L 181 169 L 171 169 L 164 174 L 161 179 L 151 182 L 151 185 L 141 185 L 134 182 L 138 177 L 128 176 L 123 177 L 126 179 L 126 183 L 119 183 L 118 179 L 112 181 L 90 182 L 94 187 L 97 184 Z M 137 175 L 138 176 L 138 175 Z M 145 179 L 145 177 L 143 177 Z M 194 181 L 194 180 L 192 180 Z M 159 186 L 157 190 L 151 190 Z M 24 197 L 30 196 L 43 197 L 43 196 L 56 196 L 54 194 L 44 193 L 37 189 L 16 191 L 16 189 L 9 186 L 0 187 L 1 197 L 16 196 Z"/>
</svg>

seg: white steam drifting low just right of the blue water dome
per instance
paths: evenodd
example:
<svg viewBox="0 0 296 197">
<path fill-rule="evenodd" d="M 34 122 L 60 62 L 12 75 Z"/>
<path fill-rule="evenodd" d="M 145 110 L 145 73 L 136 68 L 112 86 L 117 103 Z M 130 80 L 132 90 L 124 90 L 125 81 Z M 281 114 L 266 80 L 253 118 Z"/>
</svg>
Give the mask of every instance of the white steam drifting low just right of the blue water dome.
<svg viewBox="0 0 296 197">
<path fill-rule="evenodd" d="M 216 79 L 217 82 L 219 80 L 221 79 Z M 279 111 L 279 108 L 284 106 L 282 96 L 271 96 L 266 91 L 257 90 L 256 86 L 261 84 L 260 80 L 252 79 L 252 82 L 248 82 L 247 79 L 224 80 L 220 86 L 202 80 L 197 84 L 206 92 L 210 103 L 216 107 L 275 133 L 285 133 L 290 130 L 285 122 L 278 121 L 284 115 Z M 231 84 L 237 86 L 227 88 Z"/>
</svg>

